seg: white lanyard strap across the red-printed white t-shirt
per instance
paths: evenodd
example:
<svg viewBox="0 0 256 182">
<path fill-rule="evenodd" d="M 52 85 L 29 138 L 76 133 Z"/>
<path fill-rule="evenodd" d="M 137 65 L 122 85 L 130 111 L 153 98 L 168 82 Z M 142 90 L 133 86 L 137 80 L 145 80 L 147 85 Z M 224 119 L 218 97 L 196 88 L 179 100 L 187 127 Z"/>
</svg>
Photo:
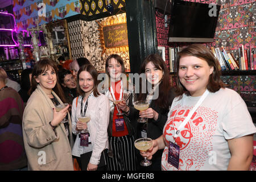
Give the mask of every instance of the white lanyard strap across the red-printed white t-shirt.
<svg viewBox="0 0 256 182">
<path fill-rule="evenodd" d="M 187 125 L 189 119 L 192 117 L 192 115 L 195 113 L 197 107 L 199 107 L 202 102 L 204 101 L 204 99 L 207 97 L 207 95 L 209 94 L 208 90 L 205 90 L 203 96 L 200 97 L 200 100 L 197 101 L 196 105 L 193 107 L 193 109 L 189 112 L 188 116 L 184 119 L 184 121 L 181 123 L 181 125 L 177 128 L 177 130 L 175 130 L 174 127 L 174 131 L 175 131 L 175 135 L 174 135 L 174 140 L 177 138 L 177 135 L 179 135 L 180 130 L 183 129 L 183 127 L 185 125 Z"/>
</svg>

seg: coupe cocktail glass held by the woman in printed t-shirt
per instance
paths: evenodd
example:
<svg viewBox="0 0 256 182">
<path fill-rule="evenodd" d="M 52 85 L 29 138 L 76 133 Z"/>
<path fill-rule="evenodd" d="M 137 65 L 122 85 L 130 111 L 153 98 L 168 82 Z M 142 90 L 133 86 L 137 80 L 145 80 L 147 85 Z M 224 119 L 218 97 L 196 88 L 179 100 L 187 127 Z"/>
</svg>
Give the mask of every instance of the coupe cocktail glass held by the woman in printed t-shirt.
<svg viewBox="0 0 256 182">
<path fill-rule="evenodd" d="M 139 150 L 146 152 L 148 149 L 152 147 L 152 139 L 151 138 L 139 138 L 135 140 L 134 146 Z M 141 166 L 150 166 L 152 164 L 151 160 L 148 160 L 147 157 L 144 157 L 144 160 L 141 161 Z"/>
</svg>

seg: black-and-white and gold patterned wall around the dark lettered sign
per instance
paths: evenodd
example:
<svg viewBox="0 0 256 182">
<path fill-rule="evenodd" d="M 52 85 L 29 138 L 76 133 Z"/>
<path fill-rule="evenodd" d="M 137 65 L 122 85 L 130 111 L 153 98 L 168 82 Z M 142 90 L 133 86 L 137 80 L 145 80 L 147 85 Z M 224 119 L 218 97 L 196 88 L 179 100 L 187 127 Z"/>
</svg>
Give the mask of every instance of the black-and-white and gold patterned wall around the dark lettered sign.
<svg viewBox="0 0 256 182">
<path fill-rule="evenodd" d="M 118 14 L 109 16 L 108 18 L 98 19 L 100 23 L 113 18 L 125 19 L 125 14 Z M 103 23 L 101 23 L 103 24 Z M 68 23 L 69 38 L 71 40 L 72 59 L 79 57 L 86 57 L 90 63 L 96 67 L 98 72 L 105 72 L 106 58 L 111 54 L 105 52 L 102 54 L 102 48 L 100 47 L 100 32 L 98 31 L 98 23 L 96 21 L 86 22 L 84 20 L 76 20 Z M 112 52 L 116 53 L 116 52 Z M 126 72 L 130 72 L 129 50 L 121 51 L 117 53 L 122 57 L 125 62 Z"/>
</svg>

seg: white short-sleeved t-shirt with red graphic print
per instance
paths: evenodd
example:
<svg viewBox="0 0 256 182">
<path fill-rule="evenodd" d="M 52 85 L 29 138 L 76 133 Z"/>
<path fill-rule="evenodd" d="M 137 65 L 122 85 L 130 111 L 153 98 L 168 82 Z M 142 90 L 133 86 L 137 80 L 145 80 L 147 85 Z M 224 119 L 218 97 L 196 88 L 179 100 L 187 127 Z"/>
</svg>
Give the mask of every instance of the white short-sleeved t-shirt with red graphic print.
<svg viewBox="0 0 256 182">
<path fill-rule="evenodd" d="M 174 99 L 163 130 L 166 143 L 174 142 L 175 130 L 200 97 L 183 94 L 181 100 Z M 179 170 L 226 170 L 231 157 L 227 140 L 254 133 L 250 113 L 236 91 L 225 88 L 210 92 L 176 138 L 180 146 Z M 178 170 L 167 160 L 165 147 L 162 169 Z"/>
</svg>

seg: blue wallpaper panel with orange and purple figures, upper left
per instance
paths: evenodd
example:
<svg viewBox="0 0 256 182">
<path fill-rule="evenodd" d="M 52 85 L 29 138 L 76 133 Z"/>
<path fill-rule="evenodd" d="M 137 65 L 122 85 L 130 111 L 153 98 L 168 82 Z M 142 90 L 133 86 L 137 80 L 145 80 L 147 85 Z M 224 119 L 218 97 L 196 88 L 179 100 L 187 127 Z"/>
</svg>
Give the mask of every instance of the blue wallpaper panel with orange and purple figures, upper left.
<svg viewBox="0 0 256 182">
<path fill-rule="evenodd" d="M 40 3 L 46 5 L 46 16 Z M 37 20 L 39 25 L 51 22 L 55 19 L 63 19 L 80 13 L 79 0 L 14 0 L 14 16 L 18 30 L 26 30 L 35 27 Z"/>
</svg>

